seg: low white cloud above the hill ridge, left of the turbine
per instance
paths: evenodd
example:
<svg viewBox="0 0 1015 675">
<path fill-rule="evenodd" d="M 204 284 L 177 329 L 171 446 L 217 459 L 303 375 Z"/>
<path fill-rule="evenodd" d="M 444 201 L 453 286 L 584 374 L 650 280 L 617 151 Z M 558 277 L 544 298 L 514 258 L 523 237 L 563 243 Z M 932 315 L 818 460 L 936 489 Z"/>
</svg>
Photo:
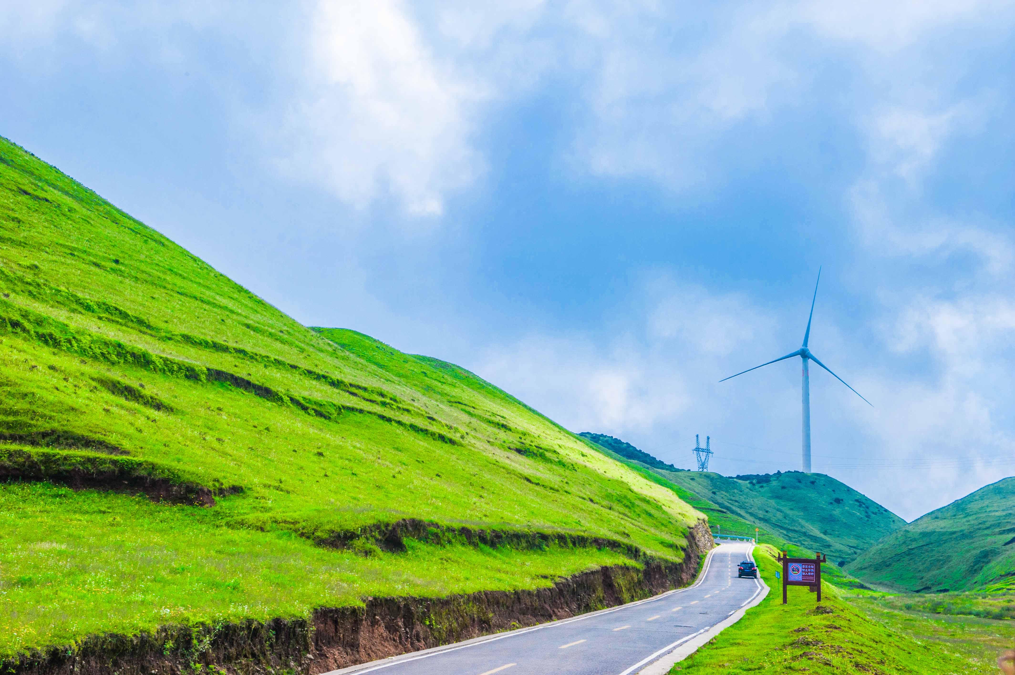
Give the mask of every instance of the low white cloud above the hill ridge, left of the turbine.
<svg viewBox="0 0 1015 675">
<path fill-rule="evenodd" d="M 733 358 L 738 349 L 781 348 L 770 341 L 771 319 L 746 297 L 664 272 L 642 275 L 624 307 L 623 328 L 606 342 L 532 333 L 489 346 L 477 372 L 576 431 L 651 434 L 686 422 L 708 387 L 742 369 L 750 356 Z"/>
</svg>

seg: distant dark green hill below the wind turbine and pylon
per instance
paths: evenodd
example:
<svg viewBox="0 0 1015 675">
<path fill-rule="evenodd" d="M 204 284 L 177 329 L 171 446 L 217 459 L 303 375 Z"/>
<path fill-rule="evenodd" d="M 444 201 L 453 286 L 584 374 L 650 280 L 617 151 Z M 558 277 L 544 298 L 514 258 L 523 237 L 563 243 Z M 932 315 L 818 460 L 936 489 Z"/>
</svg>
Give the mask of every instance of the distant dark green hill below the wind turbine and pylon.
<svg viewBox="0 0 1015 675">
<path fill-rule="evenodd" d="M 627 453 L 623 458 L 677 486 L 681 498 L 708 515 L 710 525 L 741 535 L 753 535 L 757 527 L 762 535 L 769 535 L 760 541 L 776 546 L 790 542 L 821 551 L 839 566 L 905 524 L 884 507 L 824 474 L 790 471 L 728 478 L 710 472 L 670 471 L 659 468 L 663 463 L 652 455 L 612 436 L 581 435 L 612 440 L 610 445 L 600 445 L 613 453 L 616 447 L 623 447 Z M 634 459 L 639 457 L 648 461 Z"/>
</svg>

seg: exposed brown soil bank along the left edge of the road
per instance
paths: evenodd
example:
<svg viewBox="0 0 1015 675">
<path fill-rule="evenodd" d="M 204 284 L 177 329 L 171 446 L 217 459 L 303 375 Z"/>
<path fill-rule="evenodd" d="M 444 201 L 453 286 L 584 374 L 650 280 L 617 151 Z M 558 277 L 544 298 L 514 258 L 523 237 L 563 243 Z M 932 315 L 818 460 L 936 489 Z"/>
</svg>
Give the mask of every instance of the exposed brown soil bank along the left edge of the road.
<svg viewBox="0 0 1015 675">
<path fill-rule="evenodd" d="M 688 533 L 682 562 L 642 559 L 532 591 L 482 591 L 449 598 L 367 598 L 363 607 L 319 609 L 308 619 L 167 626 L 135 636 L 95 635 L 77 646 L 0 662 L 11 675 L 181 675 L 206 668 L 261 675 L 318 675 L 479 635 L 648 598 L 685 586 L 712 548 L 704 521 Z"/>
</svg>

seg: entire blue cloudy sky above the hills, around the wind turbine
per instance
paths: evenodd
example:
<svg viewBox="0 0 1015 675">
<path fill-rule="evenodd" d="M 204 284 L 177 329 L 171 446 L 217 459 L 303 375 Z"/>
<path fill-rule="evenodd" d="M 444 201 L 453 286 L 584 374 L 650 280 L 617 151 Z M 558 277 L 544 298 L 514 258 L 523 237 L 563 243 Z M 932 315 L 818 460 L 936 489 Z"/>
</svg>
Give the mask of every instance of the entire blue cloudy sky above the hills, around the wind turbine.
<svg viewBox="0 0 1015 675">
<path fill-rule="evenodd" d="M 622 5 L 622 6 L 621 6 Z M 1015 4 L 0 9 L 0 134 L 308 325 L 907 520 L 1015 472 Z"/>
</svg>

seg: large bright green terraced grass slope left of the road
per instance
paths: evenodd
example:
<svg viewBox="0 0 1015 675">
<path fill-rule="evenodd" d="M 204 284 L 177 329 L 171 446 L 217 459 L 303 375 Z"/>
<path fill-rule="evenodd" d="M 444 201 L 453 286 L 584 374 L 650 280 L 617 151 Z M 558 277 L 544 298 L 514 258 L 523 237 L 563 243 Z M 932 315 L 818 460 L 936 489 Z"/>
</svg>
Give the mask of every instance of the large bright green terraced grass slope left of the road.
<svg viewBox="0 0 1015 675">
<path fill-rule="evenodd" d="M 5 139 L 0 480 L 0 657 L 676 562 L 702 518 L 462 368 L 299 325 Z"/>
</svg>

